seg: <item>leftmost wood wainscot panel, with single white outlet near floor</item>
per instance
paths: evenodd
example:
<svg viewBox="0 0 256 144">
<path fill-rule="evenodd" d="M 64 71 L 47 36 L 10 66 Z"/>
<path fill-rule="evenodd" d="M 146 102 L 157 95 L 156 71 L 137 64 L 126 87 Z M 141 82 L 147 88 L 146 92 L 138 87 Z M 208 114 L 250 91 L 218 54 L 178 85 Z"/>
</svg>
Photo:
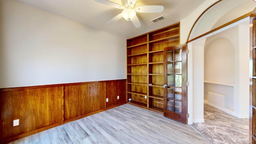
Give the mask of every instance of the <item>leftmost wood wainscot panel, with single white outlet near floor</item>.
<svg viewBox="0 0 256 144">
<path fill-rule="evenodd" d="M 0 140 L 62 122 L 62 101 L 62 86 L 0 92 Z"/>
</svg>

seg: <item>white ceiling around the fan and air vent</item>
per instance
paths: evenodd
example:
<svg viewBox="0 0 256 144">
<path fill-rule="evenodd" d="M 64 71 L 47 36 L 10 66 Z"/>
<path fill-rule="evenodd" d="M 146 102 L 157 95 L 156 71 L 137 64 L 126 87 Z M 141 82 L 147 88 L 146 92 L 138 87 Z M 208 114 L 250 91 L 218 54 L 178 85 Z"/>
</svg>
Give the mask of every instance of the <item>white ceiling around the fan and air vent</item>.
<svg viewBox="0 0 256 144">
<path fill-rule="evenodd" d="M 134 36 L 168 26 L 179 22 L 193 12 L 206 0 L 138 0 L 136 6 L 162 5 L 163 12 L 160 13 L 137 13 L 141 27 L 135 28 L 131 21 L 124 18 L 114 24 L 107 24 L 114 16 L 120 14 L 122 9 L 113 8 L 94 0 L 17 0 L 24 4 L 52 12 L 65 18 L 80 22 L 86 26 L 96 28 L 122 36 L 132 38 Z M 111 0 L 122 5 L 121 0 Z M 166 20 L 153 23 L 150 20 L 159 16 Z"/>
</svg>

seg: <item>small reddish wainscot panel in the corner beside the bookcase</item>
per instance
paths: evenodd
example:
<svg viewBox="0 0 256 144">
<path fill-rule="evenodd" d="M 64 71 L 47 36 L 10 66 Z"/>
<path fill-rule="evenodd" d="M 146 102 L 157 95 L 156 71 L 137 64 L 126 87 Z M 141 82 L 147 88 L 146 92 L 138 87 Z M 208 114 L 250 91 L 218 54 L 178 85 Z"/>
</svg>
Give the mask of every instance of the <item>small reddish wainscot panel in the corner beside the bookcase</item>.
<svg viewBox="0 0 256 144">
<path fill-rule="evenodd" d="M 119 96 L 119 100 L 117 99 Z M 126 81 L 106 82 L 106 107 L 126 102 Z"/>
</svg>

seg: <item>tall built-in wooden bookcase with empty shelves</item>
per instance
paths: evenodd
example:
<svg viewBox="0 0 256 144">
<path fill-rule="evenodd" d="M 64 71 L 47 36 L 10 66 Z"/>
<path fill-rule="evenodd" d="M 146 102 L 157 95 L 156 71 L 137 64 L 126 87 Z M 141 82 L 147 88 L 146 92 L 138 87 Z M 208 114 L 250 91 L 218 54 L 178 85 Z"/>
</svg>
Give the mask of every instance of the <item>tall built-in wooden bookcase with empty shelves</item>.
<svg viewBox="0 0 256 144">
<path fill-rule="evenodd" d="M 163 113 L 163 50 L 178 44 L 180 23 L 127 39 L 128 103 Z"/>
</svg>

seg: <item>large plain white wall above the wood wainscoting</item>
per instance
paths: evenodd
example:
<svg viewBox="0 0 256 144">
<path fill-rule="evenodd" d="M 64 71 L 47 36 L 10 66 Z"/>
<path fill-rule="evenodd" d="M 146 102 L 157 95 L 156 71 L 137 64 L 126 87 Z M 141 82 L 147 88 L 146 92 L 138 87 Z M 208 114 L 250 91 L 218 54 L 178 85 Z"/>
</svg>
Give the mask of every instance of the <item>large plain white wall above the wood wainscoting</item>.
<svg viewBox="0 0 256 144">
<path fill-rule="evenodd" d="M 126 79 L 126 39 L 0 1 L 0 88 Z"/>
</svg>

